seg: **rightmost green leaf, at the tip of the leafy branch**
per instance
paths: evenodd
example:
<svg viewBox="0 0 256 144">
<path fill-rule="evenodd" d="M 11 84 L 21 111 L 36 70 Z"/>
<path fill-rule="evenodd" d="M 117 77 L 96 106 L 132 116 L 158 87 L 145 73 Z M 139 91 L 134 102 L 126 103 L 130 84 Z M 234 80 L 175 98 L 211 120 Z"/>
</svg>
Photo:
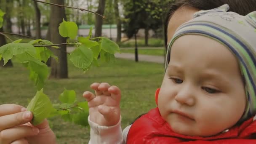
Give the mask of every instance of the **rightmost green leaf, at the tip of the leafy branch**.
<svg viewBox="0 0 256 144">
<path fill-rule="evenodd" d="M 120 52 L 119 46 L 106 37 L 101 37 L 101 48 L 104 49 L 106 52 L 112 54 L 115 54 L 115 52 Z"/>
</svg>

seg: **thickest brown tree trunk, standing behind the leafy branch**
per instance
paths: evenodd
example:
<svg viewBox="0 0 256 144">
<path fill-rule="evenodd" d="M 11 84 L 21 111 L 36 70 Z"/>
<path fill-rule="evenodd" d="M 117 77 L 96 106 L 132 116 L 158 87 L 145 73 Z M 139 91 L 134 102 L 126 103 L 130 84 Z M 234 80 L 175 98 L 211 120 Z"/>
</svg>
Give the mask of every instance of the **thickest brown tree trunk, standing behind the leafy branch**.
<svg viewBox="0 0 256 144">
<path fill-rule="evenodd" d="M 56 3 L 59 5 L 64 5 L 64 0 L 51 0 L 51 3 Z M 51 31 L 51 42 L 66 43 L 66 38 L 59 35 L 59 24 L 62 19 L 66 19 L 65 9 L 51 5 L 51 18 L 50 18 L 50 31 Z M 67 78 L 67 45 L 59 46 L 59 49 L 54 49 L 53 53 L 59 57 L 59 63 L 54 59 L 51 59 L 51 78 Z"/>
</svg>

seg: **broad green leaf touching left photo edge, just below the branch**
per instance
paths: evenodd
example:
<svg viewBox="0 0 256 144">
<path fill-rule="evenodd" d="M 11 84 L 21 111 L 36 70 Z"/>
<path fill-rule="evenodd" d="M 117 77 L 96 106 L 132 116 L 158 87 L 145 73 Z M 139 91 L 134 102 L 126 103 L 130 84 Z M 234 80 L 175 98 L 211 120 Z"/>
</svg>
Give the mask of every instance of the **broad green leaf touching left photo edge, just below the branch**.
<svg viewBox="0 0 256 144">
<path fill-rule="evenodd" d="M 35 48 L 28 43 L 8 43 L 0 47 L 0 55 L 3 56 L 4 65 L 13 56 L 21 53 L 29 53 L 31 56 L 36 55 Z"/>
</svg>

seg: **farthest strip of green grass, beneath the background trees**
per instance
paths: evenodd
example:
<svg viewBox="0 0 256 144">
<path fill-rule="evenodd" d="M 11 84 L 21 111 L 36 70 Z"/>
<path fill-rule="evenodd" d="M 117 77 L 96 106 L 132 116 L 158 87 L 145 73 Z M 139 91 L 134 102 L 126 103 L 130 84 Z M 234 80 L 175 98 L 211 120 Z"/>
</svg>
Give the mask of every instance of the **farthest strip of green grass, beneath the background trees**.
<svg viewBox="0 0 256 144">
<path fill-rule="evenodd" d="M 148 45 L 149 47 L 163 47 L 164 46 L 164 40 L 161 39 L 161 38 L 149 38 L 148 44 L 149 44 Z M 130 39 L 130 40 L 125 41 L 123 43 L 118 43 L 118 45 L 121 48 L 134 47 L 135 40 Z M 138 38 L 137 39 L 137 45 L 138 45 L 138 47 L 145 47 L 145 39 L 144 38 Z"/>
</svg>

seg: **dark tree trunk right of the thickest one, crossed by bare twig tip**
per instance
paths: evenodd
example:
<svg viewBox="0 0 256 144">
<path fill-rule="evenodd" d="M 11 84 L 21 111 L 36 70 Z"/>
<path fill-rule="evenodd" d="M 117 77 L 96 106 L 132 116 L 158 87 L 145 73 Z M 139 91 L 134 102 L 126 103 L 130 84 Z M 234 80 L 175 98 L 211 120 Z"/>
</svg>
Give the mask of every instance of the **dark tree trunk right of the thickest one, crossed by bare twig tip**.
<svg viewBox="0 0 256 144">
<path fill-rule="evenodd" d="M 99 6 L 96 13 L 104 15 L 106 0 L 99 0 Z M 101 37 L 103 19 L 101 16 L 95 15 L 95 37 Z"/>
</svg>

